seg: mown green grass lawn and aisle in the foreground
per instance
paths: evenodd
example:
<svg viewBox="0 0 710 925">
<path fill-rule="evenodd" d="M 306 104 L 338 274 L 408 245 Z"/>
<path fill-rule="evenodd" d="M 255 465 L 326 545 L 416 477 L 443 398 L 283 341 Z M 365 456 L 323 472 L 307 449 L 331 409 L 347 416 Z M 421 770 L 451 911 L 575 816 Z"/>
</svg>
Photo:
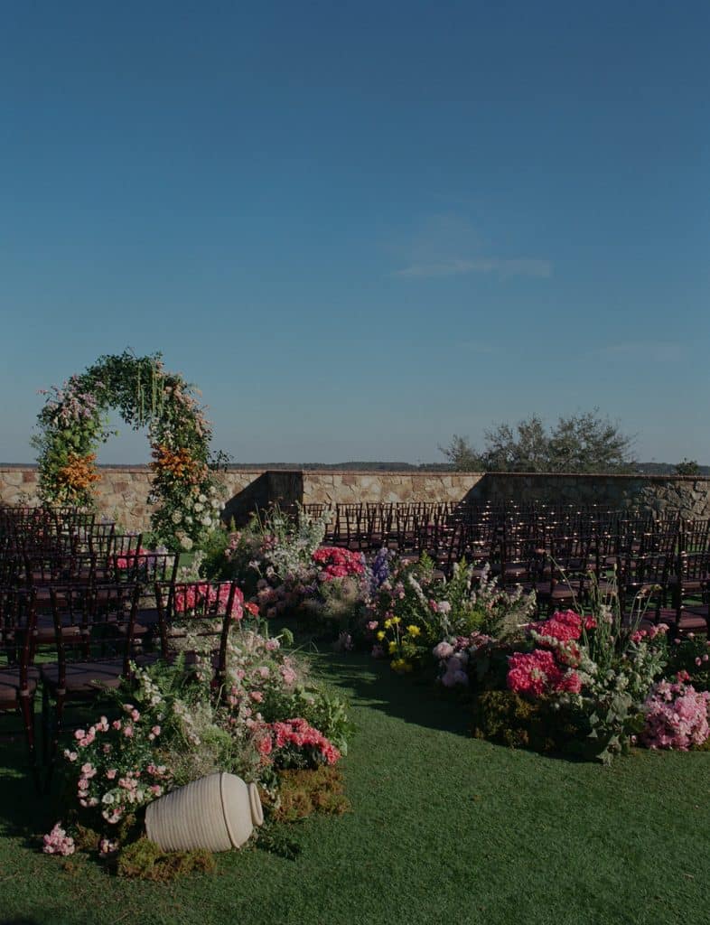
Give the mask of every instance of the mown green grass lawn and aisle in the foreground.
<svg viewBox="0 0 710 925">
<path fill-rule="evenodd" d="M 214 876 L 126 882 L 43 856 L 58 818 L 0 770 L 0 925 L 664 925 L 710 914 L 710 754 L 611 768 L 471 739 L 464 708 L 363 656 L 317 658 L 350 697 L 350 815 L 291 832 L 295 861 L 247 850 Z"/>
</svg>

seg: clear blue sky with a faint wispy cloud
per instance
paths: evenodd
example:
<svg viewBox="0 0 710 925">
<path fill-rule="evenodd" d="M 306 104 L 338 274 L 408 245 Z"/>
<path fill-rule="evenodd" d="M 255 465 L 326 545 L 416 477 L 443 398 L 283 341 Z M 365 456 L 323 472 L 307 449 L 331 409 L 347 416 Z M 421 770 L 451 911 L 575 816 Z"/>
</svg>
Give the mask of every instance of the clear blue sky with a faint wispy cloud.
<svg viewBox="0 0 710 925">
<path fill-rule="evenodd" d="M 162 351 L 239 462 L 598 406 L 710 462 L 710 5 L 8 3 L 1 462 Z M 126 433 L 103 462 L 144 462 Z"/>
</svg>

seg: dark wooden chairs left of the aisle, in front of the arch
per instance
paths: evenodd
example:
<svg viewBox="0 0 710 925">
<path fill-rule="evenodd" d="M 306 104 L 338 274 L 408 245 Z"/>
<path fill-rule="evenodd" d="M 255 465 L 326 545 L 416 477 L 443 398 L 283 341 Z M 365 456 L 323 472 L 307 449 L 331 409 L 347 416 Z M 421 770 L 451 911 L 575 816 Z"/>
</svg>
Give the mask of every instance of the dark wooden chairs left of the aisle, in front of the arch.
<svg viewBox="0 0 710 925">
<path fill-rule="evenodd" d="M 80 540 L 67 548 L 63 537 L 77 525 Z M 132 664 L 174 660 L 186 647 L 188 626 L 192 648 L 183 653 L 186 670 L 194 671 L 199 661 L 197 640 L 207 653 L 212 684 L 222 685 L 227 635 L 233 616 L 240 615 L 235 582 L 180 583 L 176 557 L 146 552 L 140 537 L 120 553 L 116 545 L 102 554 L 95 547 L 92 551 L 87 531 L 94 526 L 72 524 L 67 531 L 66 524 L 57 528 L 56 521 L 45 518 L 41 531 L 20 537 L 6 529 L 2 537 L 0 711 L 21 718 L 38 785 L 34 719 L 39 690 L 48 783 L 67 707 L 85 705 L 106 688 L 116 688 L 130 678 Z M 13 542 L 6 541 L 8 536 Z"/>
</svg>

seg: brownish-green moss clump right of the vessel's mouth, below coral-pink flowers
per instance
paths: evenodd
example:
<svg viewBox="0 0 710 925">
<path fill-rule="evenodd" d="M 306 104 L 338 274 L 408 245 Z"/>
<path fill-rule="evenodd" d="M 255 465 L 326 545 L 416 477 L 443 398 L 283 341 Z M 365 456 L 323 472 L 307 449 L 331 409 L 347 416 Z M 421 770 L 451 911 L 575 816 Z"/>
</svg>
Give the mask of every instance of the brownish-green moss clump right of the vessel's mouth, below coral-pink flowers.
<svg viewBox="0 0 710 925">
<path fill-rule="evenodd" d="M 313 813 L 341 815 L 348 812 L 343 775 L 335 768 L 322 765 L 315 771 L 279 771 L 278 796 L 263 794 L 264 806 L 275 822 L 295 822 Z"/>
</svg>

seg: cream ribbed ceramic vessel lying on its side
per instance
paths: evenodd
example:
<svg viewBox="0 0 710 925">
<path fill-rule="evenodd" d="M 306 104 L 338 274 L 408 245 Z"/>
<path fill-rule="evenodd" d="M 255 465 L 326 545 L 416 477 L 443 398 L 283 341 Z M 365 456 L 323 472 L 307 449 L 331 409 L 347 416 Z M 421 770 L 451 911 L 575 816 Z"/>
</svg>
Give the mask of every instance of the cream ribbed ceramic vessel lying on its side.
<svg viewBox="0 0 710 925">
<path fill-rule="evenodd" d="M 229 851 L 262 822 L 256 784 L 224 771 L 161 796 L 145 812 L 148 838 L 164 851 Z"/>
</svg>

